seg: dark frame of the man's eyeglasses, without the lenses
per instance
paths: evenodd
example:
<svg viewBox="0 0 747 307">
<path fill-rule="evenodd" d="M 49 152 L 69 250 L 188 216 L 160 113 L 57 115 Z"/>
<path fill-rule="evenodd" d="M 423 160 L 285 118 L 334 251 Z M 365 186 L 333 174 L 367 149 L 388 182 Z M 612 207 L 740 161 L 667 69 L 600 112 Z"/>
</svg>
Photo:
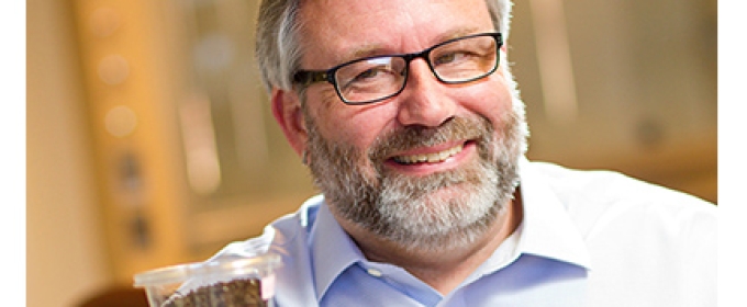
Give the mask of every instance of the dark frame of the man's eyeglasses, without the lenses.
<svg viewBox="0 0 747 307">
<path fill-rule="evenodd" d="M 436 49 L 441 46 L 444 46 L 444 45 L 447 45 L 447 44 L 450 44 L 450 43 L 454 43 L 454 42 L 458 42 L 458 41 L 462 41 L 462 39 L 467 39 L 467 38 L 479 37 L 479 36 L 491 36 L 495 39 L 497 58 L 495 58 L 495 65 L 493 66 L 493 68 L 490 69 L 489 71 L 482 73 L 482 75 L 479 75 L 477 77 L 466 79 L 466 80 L 453 81 L 453 80 L 442 79 L 442 77 L 438 76 L 436 70 L 433 68 L 433 64 L 431 62 L 431 58 L 430 58 L 431 52 L 433 52 L 434 49 Z M 435 76 L 438 81 L 441 81 L 443 83 L 447 83 L 447 84 L 460 84 L 460 83 L 467 83 L 467 82 L 471 82 L 471 81 L 475 81 L 475 80 L 486 78 L 486 77 L 492 75 L 493 72 L 495 72 L 495 70 L 498 69 L 499 62 L 500 62 L 501 57 L 500 57 L 499 53 L 500 53 L 500 49 L 501 49 L 502 46 L 503 46 L 503 36 L 501 35 L 501 33 L 493 32 L 493 33 L 472 34 L 472 35 L 461 36 L 461 37 L 457 37 L 457 38 L 453 38 L 453 39 L 448 39 L 448 41 L 438 43 L 438 44 L 436 44 L 436 45 L 434 45 L 434 46 L 432 46 L 432 47 L 430 47 L 425 50 L 422 50 L 420 53 L 398 54 L 398 55 L 378 55 L 378 56 L 364 57 L 364 58 L 358 58 L 358 59 L 354 59 L 354 60 L 350 60 L 350 61 L 343 62 L 343 64 L 337 65 L 337 66 L 330 68 L 327 70 L 302 70 L 301 69 L 301 70 L 298 70 L 296 73 L 293 73 L 293 82 L 297 83 L 297 84 L 300 84 L 302 87 L 308 87 L 308 86 L 310 86 L 312 83 L 316 83 L 316 82 L 328 82 L 335 88 L 335 92 L 337 92 L 337 96 L 345 104 L 350 104 L 350 105 L 369 104 L 369 103 L 379 102 L 379 101 L 382 101 L 382 100 L 386 100 L 386 99 L 389 99 L 389 98 L 392 98 L 392 96 L 400 94 L 404 90 L 405 86 L 408 84 L 408 73 L 410 72 L 410 62 L 412 60 L 416 59 L 416 58 L 423 58 L 425 60 L 425 62 L 428 64 L 428 68 L 431 69 L 431 72 L 433 72 L 433 76 Z M 343 96 L 343 94 L 339 92 L 339 87 L 337 84 L 337 80 L 335 79 L 335 73 L 337 73 L 337 70 L 339 70 L 341 68 L 343 68 L 343 67 L 345 67 L 349 64 L 353 64 L 353 62 L 369 60 L 369 59 L 374 59 L 374 58 L 383 58 L 383 57 L 399 57 L 399 58 L 404 59 L 404 64 L 405 64 L 404 70 L 403 70 L 404 81 L 402 82 L 402 86 L 400 87 L 400 89 L 392 94 L 384 95 L 382 98 L 377 98 L 377 99 L 374 99 L 374 100 L 361 101 L 361 102 L 347 101 Z"/>
</svg>

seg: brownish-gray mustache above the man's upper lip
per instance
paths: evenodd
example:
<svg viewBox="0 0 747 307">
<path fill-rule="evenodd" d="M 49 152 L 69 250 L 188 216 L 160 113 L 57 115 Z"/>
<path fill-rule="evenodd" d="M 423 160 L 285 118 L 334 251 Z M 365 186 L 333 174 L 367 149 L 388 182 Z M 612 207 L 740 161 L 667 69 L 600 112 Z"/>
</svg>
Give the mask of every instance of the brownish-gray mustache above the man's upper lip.
<svg viewBox="0 0 747 307">
<path fill-rule="evenodd" d="M 395 152 L 447 141 L 487 139 L 492 132 L 490 121 L 484 117 L 451 117 L 437 127 L 401 127 L 379 136 L 368 150 L 368 157 L 374 162 L 382 162 Z"/>
</svg>

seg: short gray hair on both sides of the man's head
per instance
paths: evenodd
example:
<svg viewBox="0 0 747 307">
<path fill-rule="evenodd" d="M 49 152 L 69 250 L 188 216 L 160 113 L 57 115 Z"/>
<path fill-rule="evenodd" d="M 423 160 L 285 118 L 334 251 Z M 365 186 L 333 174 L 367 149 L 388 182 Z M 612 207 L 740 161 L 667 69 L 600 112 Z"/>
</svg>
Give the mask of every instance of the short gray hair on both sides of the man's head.
<svg viewBox="0 0 747 307">
<path fill-rule="evenodd" d="M 256 56 L 267 91 L 290 90 L 301 62 L 300 0 L 263 0 L 257 19 Z M 486 0 L 495 29 L 509 37 L 511 0 Z"/>
</svg>

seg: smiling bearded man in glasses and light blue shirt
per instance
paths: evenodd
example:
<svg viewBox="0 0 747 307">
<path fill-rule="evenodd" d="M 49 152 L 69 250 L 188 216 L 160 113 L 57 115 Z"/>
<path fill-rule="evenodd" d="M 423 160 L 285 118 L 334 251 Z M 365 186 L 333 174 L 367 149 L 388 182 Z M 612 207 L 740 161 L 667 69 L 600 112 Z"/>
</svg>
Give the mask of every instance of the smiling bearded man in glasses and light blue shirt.
<svg viewBox="0 0 747 307">
<path fill-rule="evenodd" d="M 509 0 L 266 0 L 272 113 L 322 195 L 215 259 L 277 306 L 714 306 L 715 208 L 529 162 Z"/>
</svg>

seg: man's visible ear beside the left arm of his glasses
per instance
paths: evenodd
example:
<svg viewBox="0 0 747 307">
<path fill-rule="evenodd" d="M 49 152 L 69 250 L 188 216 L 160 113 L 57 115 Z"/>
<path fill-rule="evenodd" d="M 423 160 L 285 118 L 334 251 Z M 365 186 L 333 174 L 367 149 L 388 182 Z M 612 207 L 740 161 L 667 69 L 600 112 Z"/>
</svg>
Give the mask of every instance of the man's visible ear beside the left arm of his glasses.
<svg viewBox="0 0 747 307">
<path fill-rule="evenodd" d="M 282 128 L 286 139 L 301 156 L 306 148 L 306 126 L 301 111 L 301 100 L 294 91 L 286 91 L 278 88 L 272 89 L 270 96 L 272 104 L 272 115 Z"/>
</svg>

